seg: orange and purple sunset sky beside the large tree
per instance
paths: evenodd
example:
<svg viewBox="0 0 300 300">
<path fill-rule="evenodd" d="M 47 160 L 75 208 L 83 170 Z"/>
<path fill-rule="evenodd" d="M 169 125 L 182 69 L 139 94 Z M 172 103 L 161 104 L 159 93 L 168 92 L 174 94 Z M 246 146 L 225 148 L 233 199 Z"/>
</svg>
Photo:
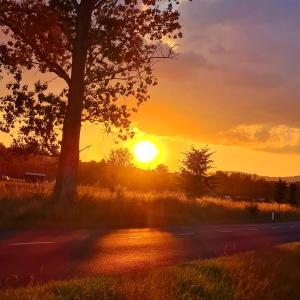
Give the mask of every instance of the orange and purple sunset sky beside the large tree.
<svg viewBox="0 0 300 300">
<path fill-rule="evenodd" d="M 178 168 L 191 145 L 215 170 L 300 174 L 300 0 L 194 0 L 180 5 L 177 57 L 155 66 L 159 85 L 133 118 L 133 141 L 84 125 L 82 160 L 153 139 Z M 7 138 L 0 135 L 0 140 Z"/>
</svg>

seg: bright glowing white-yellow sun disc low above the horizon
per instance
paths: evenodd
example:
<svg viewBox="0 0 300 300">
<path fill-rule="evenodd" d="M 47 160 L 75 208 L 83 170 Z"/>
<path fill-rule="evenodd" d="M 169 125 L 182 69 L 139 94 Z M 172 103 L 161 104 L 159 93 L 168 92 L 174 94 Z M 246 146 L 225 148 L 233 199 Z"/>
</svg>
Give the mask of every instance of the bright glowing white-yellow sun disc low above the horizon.
<svg viewBox="0 0 300 300">
<path fill-rule="evenodd" d="M 157 146 L 150 141 L 140 141 L 134 145 L 133 153 L 138 162 L 148 164 L 158 157 L 159 150 Z"/>
</svg>

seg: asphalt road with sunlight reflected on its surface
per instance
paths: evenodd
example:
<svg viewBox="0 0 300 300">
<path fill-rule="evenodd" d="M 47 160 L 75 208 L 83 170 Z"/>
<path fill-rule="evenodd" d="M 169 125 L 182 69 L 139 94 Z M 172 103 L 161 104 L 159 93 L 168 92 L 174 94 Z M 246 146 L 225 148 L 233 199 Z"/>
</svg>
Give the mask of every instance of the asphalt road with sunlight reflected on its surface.
<svg viewBox="0 0 300 300">
<path fill-rule="evenodd" d="M 0 286 L 124 273 L 300 241 L 300 222 L 0 231 Z"/>
</svg>

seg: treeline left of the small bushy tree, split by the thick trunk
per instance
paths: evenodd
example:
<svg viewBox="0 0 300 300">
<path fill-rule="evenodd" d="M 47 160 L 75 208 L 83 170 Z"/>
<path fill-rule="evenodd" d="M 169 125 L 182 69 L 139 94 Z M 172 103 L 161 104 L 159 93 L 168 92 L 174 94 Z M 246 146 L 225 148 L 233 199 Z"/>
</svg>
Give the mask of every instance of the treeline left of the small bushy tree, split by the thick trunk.
<svg viewBox="0 0 300 300">
<path fill-rule="evenodd" d="M 0 175 L 24 178 L 24 173 L 47 174 L 49 180 L 56 175 L 57 159 L 42 154 L 29 154 L 23 149 L 6 148 L 0 144 Z M 78 183 L 114 189 L 124 186 L 132 190 L 174 190 L 177 176 L 160 165 L 155 170 L 142 170 L 133 165 L 117 166 L 110 159 L 100 162 L 80 162 Z"/>
</svg>

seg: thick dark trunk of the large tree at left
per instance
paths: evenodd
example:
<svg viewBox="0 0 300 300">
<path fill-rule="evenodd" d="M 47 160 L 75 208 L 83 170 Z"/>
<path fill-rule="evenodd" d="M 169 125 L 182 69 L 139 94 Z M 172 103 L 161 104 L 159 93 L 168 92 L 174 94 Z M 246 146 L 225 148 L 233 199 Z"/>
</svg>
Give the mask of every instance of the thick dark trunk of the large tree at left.
<svg viewBox="0 0 300 300">
<path fill-rule="evenodd" d="M 61 152 L 56 175 L 54 199 L 69 204 L 76 197 L 79 165 L 81 115 L 84 99 L 84 75 L 91 26 L 92 2 L 82 0 L 76 20 L 76 38 L 73 44 L 72 72 L 68 106 L 63 125 Z"/>
</svg>

